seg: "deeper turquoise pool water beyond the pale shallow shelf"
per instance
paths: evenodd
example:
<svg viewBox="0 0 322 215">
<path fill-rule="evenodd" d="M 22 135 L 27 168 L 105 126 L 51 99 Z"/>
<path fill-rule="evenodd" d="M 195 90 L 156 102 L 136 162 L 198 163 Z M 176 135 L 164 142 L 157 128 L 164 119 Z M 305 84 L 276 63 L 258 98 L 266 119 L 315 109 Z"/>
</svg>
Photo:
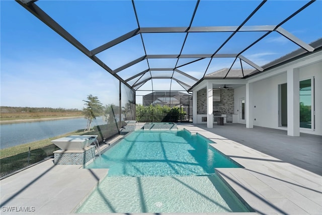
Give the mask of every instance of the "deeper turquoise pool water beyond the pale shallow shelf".
<svg viewBox="0 0 322 215">
<path fill-rule="evenodd" d="M 183 176 L 209 175 L 216 167 L 240 167 L 209 142 L 187 130 L 137 130 L 87 168 L 109 169 L 109 176 Z"/>
</svg>

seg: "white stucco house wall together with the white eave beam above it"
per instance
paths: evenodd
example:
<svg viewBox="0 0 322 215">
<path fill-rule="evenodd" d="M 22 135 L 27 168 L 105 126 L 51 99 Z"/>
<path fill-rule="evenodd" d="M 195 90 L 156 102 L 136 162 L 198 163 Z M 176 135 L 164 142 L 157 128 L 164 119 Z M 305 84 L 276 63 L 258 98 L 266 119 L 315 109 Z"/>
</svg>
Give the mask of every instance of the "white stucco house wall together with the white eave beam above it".
<svg viewBox="0 0 322 215">
<path fill-rule="evenodd" d="M 253 124 L 269 128 L 283 129 L 279 127 L 279 85 L 287 83 L 287 71 L 298 69 L 299 80 L 307 80 L 314 77 L 314 106 L 315 106 L 315 129 L 300 128 L 300 132 L 322 135 L 322 51 L 299 58 L 279 67 L 265 71 L 265 73 L 244 80 L 229 80 L 241 87 L 234 88 L 234 122 L 246 124 L 246 120 L 240 120 L 240 98 L 246 98 L 246 83 L 252 83 L 253 87 Z M 207 80 L 209 81 L 209 80 Z M 211 80 L 214 84 L 225 83 L 228 80 Z M 222 84 L 221 83 L 221 84 Z M 225 83 L 226 84 L 226 83 Z M 199 87 L 199 88 L 198 88 Z M 203 82 L 196 87 L 200 90 L 205 87 Z M 247 102 L 245 103 L 245 105 Z M 256 106 L 256 107 L 255 107 Z M 247 107 L 245 107 L 246 110 Z M 246 111 L 245 111 L 246 114 Z M 245 116 L 247 117 L 247 116 Z M 256 120 L 255 120 L 256 119 Z M 294 127 L 293 127 L 294 128 Z M 289 125 L 289 129 L 291 126 Z"/>
</svg>

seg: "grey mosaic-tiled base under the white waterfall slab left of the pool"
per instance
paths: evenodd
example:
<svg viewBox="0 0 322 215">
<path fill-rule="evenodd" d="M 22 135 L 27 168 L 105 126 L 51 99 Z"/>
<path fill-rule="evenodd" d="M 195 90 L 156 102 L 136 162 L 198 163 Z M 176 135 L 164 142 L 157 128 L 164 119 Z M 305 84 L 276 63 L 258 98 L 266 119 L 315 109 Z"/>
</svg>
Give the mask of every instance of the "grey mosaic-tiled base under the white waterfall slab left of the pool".
<svg viewBox="0 0 322 215">
<path fill-rule="evenodd" d="M 95 147 L 90 146 L 84 150 L 57 150 L 54 152 L 55 165 L 85 165 L 95 158 Z"/>
</svg>

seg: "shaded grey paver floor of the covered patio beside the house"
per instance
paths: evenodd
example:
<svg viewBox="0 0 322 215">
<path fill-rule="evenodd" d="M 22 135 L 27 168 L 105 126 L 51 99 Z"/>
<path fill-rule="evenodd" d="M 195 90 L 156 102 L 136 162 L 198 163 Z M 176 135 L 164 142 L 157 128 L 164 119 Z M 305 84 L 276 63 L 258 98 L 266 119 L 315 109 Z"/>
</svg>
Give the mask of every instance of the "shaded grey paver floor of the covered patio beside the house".
<svg viewBox="0 0 322 215">
<path fill-rule="evenodd" d="M 288 136 L 286 130 L 260 126 L 249 129 L 239 123 L 225 123 L 224 126 L 213 124 L 213 128 L 207 128 L 206 124 L 197 126 L 285 163 L 322 175 L 322 138 L 320 135 L 300 133 L 300 136 L 294 137 Z"/>
</svg>

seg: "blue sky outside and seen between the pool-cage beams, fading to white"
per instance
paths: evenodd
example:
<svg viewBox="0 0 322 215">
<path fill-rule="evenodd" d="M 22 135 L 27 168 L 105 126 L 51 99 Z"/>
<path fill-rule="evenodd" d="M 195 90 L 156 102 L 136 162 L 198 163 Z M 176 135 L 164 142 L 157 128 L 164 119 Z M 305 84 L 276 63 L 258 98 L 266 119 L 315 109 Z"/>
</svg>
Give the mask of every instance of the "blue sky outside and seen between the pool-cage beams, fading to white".
<svg viewBox="0 0 322 215">
<path fill-rule="evenodd" d="M 268 1 L 261 14 L 254 15 L 246 25 L 276 25 L 307 1 Z M 237 26 L 254 10 L 259 1 L 201 1 L 192 26 Z M 282 5 L 281 5 L 282 3 Z M 38 1 L 36 3 L 69 31 L 88 49 L 94 49 L 137 28 L 132 4 L 129 1 Z M 107 7 L 107 4 L 109 7 Z M 137 1 L 135 7 L 141 27 L 188 26 L 195 1 Z M 218 6 L 223 9 L 215 11 Z M 1 7 L 1 105 L 29 107 L 79 108 L 87 95 L 98 96 L 102 103 L 118 103 L 118 81 L 94 61 L 61 38 L 14 1 L 0 1 Z M 282 27 L 304 42 L 312 42 L 322 35 L 321 1 L 317 1 L 285 23 Z M 227 15 L 227 11 L 229 14 Z M 57 13 L 59 11 L 59 13 Z M 224 18 L 223 18 L 224 17 Z M 238 33 L 236 39 L 220 50 L 222 53 L 242 50 L 240 41 L 249 42 L 262 34 Z M 220 44 L 227 33 L 216 34 Z M 185 38 L 184 33 L 144 34 L 147 54 L 177 53 Z M 200 35 L 190 33 L 183 53 L 212 53 L 216 42 L 214 33 Z M 275 46 L 272 46 L 275 44 Z M 277 45 L 276 45 L 277 44 Z M 244 56 L 263 65 L 298 48 L 276 32 L 271 33 Z M 180 50 L 179 50 L 180 51 Z M 112 69 L 144 55 L 140 36 L 135 36 L 97 56 Z M 184 61 L 184 59 L 180 60 Z M 176 61 L 164 60 L 172 66 Z M 229 67 L 231 59 L 212 61 L 212 71 Z M 158 66 L 160 62 L 150 60 Z M 183 62 L 184 63 L 184 62 Z M 201 78 L 209 61 L 201 60 L 181 69 L 187 74 Z M 147 62 L 141 62 L 121 71 L 127 79 L 138 70 L 144 70 Z M 165 72 L 166 73 L 166 72 Z M 179 78 L 179 77 L 178 77 Z M 150 89 L 150 82 L 141 89 Z M 153 89 L 165 89 L 170 80 L 153 81 Z M 169 87 L 168 87 L 169 88 Z M 173 83 L 172 89 L 182 89 Z"/>
</svg>

